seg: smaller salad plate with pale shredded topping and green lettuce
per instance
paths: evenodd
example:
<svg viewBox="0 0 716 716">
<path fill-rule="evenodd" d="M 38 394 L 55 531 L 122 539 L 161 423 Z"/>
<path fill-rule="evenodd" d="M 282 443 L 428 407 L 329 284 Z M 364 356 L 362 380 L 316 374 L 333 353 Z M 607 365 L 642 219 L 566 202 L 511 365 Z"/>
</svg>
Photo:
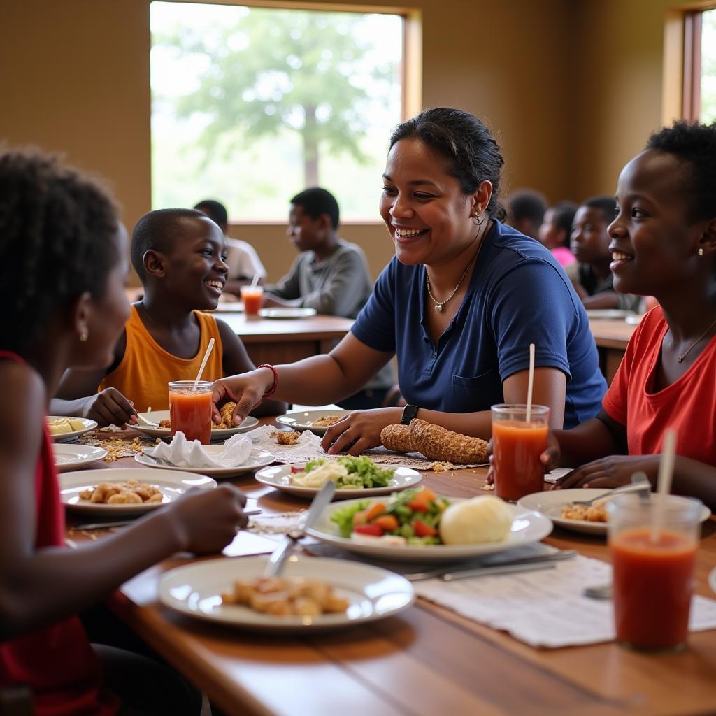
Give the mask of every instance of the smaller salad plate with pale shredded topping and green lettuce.
<svg viewBox="0 0 716 716">
<path fill-rule="evenodd" d="M 338 460 L 318 458 L 308 463 L 274 465 L 256 473 L 256 480 L 299 497 L 313 498 L 328 480 L 336 483 L 336 498 L 389 495 L 414 487 L 422 480 L 417 470 L 377 465 L 370 458 L 345 455 Z"/>
</svg>

